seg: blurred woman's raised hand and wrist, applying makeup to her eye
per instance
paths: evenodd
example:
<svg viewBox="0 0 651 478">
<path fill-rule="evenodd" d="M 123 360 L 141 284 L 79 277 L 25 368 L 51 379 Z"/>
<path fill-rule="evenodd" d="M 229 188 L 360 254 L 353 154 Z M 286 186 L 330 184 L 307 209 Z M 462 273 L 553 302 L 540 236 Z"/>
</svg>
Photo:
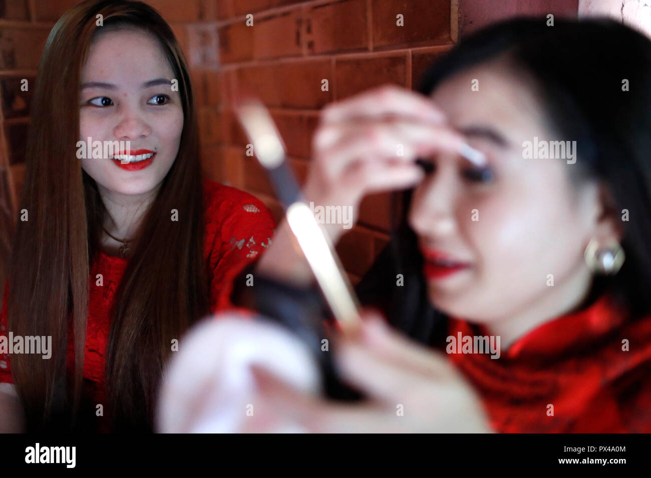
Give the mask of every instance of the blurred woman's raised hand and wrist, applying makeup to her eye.
<svg viewBox="0 0 651 478">
<path fill-rule="evenodd" d="M 381 86 L 322 109 L 303 193 L 315 207 L 350 207 L 349 226 L 357 221 L 365 195 L 415 186 L 423 176 L 417 157 L 456 153 L 463 142 L 432 100 Z M 344 224 L 323 226 L 333 244 L 346 231 Z M 312 282 L 286 222 L 257 270 L 296 285 Z"/>
</svg>

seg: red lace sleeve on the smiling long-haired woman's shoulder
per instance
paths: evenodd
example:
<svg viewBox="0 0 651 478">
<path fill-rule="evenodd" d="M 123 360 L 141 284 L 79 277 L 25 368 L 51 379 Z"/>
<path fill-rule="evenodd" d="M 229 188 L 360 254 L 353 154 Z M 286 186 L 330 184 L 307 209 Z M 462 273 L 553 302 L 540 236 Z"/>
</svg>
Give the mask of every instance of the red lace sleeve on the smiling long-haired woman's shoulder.
<svg viewBox="0 0 651 478">
<path fill-rule="evenodd" d="M 230 300 L 234 279 L 256 261 L 271 244 L 275 222 L 269 209 L 251 196 L 230 187 L 223 187 L 228 198 L 219 199 L 207 233 L 215 235 L 208 256 L 210 310 L 220 312 L 235 306 Z M 215 230 L 217 228 L 217 230 Z"/>
</svg>

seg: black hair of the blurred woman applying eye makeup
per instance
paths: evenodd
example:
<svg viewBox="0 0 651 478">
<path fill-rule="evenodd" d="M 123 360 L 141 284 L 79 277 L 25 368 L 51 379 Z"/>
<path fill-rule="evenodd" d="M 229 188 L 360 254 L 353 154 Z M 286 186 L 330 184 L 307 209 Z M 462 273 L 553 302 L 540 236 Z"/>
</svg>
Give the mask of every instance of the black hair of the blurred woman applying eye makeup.
<svg viewBox="0 0 651 478">
<path fill-rule="evenodd" d="M 504 21 L 454 46 L 430 66 L 418 90 L 429 96 L 445 79 L 500 57 L 534 79 L 549 127 L 577 140 L 575 170 L 602 181 L 618 214 L 628 209 L 621 242 L 626 261 L 615 276 L 596 277 L 589 300 L 607 290 L 631 319 L 645 315 L 651 290 L 651 40 L 605 19 L 556 20 L 553 26 L 546 18 Z M 357 293 L 411 338 L 437 345 L 447 321 L 427 299 L 422 257 L 406 221 L 411 192 L 397 196 L 400 220 L 391 242 Z"/>
</svg>

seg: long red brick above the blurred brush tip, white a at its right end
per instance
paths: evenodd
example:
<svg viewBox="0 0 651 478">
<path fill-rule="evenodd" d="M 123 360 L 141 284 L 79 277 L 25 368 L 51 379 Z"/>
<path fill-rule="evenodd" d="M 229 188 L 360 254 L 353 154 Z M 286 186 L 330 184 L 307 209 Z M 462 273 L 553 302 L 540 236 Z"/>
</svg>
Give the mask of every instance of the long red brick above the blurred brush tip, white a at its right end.
<svg viewBox="0 0 651 478">
<path fill-rule="evenodd" d="M 329 90 L 322 91 L 322 79 Z M 239 68 L 236 89 L 255 94 L 270 107 L 319 109 L 332 100 L 330 60 L 279 62 Z"/>
</svg>

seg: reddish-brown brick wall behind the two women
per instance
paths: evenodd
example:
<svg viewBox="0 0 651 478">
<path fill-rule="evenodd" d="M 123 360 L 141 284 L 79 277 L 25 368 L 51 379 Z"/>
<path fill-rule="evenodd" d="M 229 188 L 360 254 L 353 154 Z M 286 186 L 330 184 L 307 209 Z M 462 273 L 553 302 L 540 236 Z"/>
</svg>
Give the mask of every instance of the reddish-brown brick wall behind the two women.
<svg viewBox="0 0 651 478">
<path fill-rule="evenodd" d="M 76 0 L 0 0 L 0 221 L 16 209 L 24 172 L 29 90 L 49 30 Z M 277 219 L 281 207 L 232 114 L 232 94 L 256 92 L 288 147 L 303 181 L 318 111 L 367 88 L 417 85 L 424 68 L 447 51 L 458 32 L 531 8 L 576 12 L 577 0 L 523 3 L 490 0 L 149 0 L 170 23 L 191 66 L 208 178 L 255 194 Z M 485 2 L 484 2 L 485 3 Z M 513 7 L 514 5 L 518 7 Z M 486 7 L 486 5 L 484 5 Z M 554 8 L 552 8 L 554 7 Z M 490 12 L 488 11 L 490 10 Z M 540 10 L 540 12 L 538 12 Z M 245 24 L 253 15 L 253 26 Z M 404 26 L 396 25 L 396 15 Z M 29 81 L 27 92 L 21 79 Z M 322 79 L 329 88 L 322 91 Z M 7 169 L 8 165 L 8 169 Z M 338 250 L 353 282 L 387 243 L 389 194 L 368 196 L 359 224 Z M 4 204 L 4 207 L 3 207 Z M 0 254 L 3 233 L 0 222 Z M 6 252 L 6 246 L 5 246 Z M 6 255 L 6 254 L 5 254 Z M 0 255 L 0 284 L 5 256 Z"/>
</svg>

